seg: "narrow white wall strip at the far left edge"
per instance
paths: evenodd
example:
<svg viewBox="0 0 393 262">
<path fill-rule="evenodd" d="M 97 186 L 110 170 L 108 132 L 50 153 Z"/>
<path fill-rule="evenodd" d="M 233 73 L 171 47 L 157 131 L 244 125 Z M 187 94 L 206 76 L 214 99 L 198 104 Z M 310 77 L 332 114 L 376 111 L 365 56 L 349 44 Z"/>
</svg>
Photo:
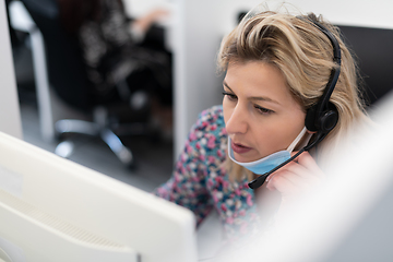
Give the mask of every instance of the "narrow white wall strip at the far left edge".
<svg viewBox="0 0 393 262">
<path fill-rule="evenodd" d="M 16 81 L 3 0 L 0 2 L 0 131 L 22 139 Z"/>
</svg>

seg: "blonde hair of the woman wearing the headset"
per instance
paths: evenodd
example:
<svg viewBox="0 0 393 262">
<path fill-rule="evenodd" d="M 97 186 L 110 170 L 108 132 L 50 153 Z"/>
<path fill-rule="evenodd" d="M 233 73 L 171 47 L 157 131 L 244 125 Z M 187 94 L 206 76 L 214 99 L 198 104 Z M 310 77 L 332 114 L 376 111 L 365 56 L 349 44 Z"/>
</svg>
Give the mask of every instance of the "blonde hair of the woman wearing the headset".
<svg viewBox="0 0 393 262">
<path fill-rule="evenodd" d="M 217 62 L 221 71 L 237 62 L 262 61 L 281 70 L 289 92 L 307 111 L 314 105 L 329 81 L 333 61 L 330 39 L 311 22 L 326 27 L 337 39 L 342 50 L 341 74 L 330 98 L 338 110 L 338 122 L 333 131 L 311 152 L 319 164 L 329 160 L 330 152 L 338 146 L 356 120 L 366 118 L 357 84 L 357 68 L 348 48 L 341 39 L 337 27 L 314 14 L 293 15 L 273 11 L 248 14 L 222 41 Z M 231 179 L 241 179 L 252 174 L 228 160 Z"/>
</svg>

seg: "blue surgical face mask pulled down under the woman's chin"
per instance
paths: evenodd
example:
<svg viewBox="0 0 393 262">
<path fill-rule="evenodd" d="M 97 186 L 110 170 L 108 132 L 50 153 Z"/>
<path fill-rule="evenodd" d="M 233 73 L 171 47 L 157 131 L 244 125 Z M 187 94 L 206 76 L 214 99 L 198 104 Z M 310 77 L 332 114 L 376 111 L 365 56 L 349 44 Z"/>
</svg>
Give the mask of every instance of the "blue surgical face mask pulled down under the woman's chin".
<svg viewBox="0 0 393 262">
<path fill-rule="evenodd" d="M 229 158 L 236 164 L 246 167 L 247 169 L 257 175 L 263 175 L 290 158 L 290 153 L 294 151 L 295 146 L 299 143 L 299 141 L 303 138 L 306 131 L 307 129 L 305 127 L 287 150 L 278 151 L 259 160 L 249 163 L 240 163 L 235 159 L 234 150 L 230 146 L 230 138 L 228 136 L 228 155 Z M 310 136 L 307 139 L 306 143 L 308 143 L 309 139 Z"/>
</svg>

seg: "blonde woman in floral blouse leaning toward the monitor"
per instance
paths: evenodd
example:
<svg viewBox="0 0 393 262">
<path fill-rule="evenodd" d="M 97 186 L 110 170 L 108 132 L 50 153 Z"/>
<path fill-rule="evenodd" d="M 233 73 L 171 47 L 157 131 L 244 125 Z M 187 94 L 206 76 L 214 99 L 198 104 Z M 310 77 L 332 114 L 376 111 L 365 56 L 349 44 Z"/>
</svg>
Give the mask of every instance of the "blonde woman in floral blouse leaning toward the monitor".
<svg viewBox="0 0 393 262">
<path fill-rule="evenodd" d="M 314 134 L 305 129 L 307 111 L 322 96 L 332 69 L 338 68 L 331 40 L 314 22 L 326 27 L 341 47 L 341 73 L 330 97 L 337 123 L 317 147 L 253 191 L 248 183 L 259 176 L 237 163 L 291 152 L 294 146 L 298 151 Z M 329 153 L 366 115 L 354 60 L 337 28 L 312 14 L 246 16 L 223 40 L 218 68 L 226 71 L 223 105 L 200 115 L 172 177 L 155 192 L 193 211 L 199 224 L 216 210 L 227 238 L 235 240 L 257 231 L 269 218 L 279 218 L 299 195 L 317 187 Z"/>
</svg>

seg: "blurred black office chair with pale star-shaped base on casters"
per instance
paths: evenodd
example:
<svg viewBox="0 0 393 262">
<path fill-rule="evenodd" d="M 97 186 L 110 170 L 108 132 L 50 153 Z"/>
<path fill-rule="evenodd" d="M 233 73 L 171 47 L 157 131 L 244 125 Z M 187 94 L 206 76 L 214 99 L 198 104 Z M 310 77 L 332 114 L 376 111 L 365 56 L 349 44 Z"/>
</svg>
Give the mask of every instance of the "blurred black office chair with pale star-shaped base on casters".
<svg viewBox="0 0 393 262">
<path fill-rule="evenodd" d="M 135 93 L 135 100 L 119 99 L 106 104 L 97 99 L 94 84 L 88 81 L 82 51 L 76 37 L 69 36 L 59 20 L 56 0 L 23 0 L 32 19 L 43 34 L 50 87 L 68 105 L 88 112 L 92 121 L 62 119 L 56 122 L 59 138 L 67 133 L 80 133 L 99 136 L 118 158 L 128 167 L 134 166 L 132 152 L 118 136 L 122 134 L 143 134 L 148 132 L 148 98 L 146 94 Z M 122 83 L 124 84 L 124 83 Z M 70 141 L 61 142 L 56 153 L 64 157 L 72 153 Z M 64 148 L 67 148 L 64 151 Z"/>
</svg>

